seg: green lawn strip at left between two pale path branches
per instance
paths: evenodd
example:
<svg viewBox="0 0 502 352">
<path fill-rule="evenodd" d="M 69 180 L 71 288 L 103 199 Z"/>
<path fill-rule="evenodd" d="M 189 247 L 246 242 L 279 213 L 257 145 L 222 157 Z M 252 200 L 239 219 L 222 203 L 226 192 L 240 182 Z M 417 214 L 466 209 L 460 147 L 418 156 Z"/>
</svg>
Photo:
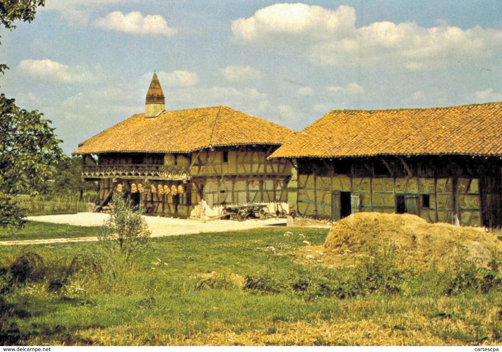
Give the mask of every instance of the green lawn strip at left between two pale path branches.
<svg viewBox="0 0 502 352">
<path fill-rule="evenodd" d="M 72 238 L 97 236 L 99 226 L 81 227 L 64 224 L 51 224 L 48 222 L 28 221 L 25 227 L 11 232 L 9 229 L 0 228 L 0 241 L 47 239 L 47 238 Z"/>
</svg>

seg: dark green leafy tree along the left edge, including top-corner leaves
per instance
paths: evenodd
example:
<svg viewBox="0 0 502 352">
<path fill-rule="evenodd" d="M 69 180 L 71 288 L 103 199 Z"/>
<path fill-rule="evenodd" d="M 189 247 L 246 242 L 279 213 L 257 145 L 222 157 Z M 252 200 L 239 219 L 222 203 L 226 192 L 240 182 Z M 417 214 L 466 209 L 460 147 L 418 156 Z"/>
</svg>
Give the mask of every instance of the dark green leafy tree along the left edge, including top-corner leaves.
<svg viewBox="0 0 502 352">
<path fill-rule="evenodd" d="M 31 22 L 37 6 L 45 0 L 0 0 L 0 26 L 13 30 L 16 20 Z M 8 69 L 0 64 L 0 73 Z M 0 94 L 0 226 L 21 228 L 24 212 L 13 196 L 37 194 L 50 176 L 49 165 L 62 155 L 54 128 L 38 111 L 16 106 L 14 99 Z"/>
</svg>

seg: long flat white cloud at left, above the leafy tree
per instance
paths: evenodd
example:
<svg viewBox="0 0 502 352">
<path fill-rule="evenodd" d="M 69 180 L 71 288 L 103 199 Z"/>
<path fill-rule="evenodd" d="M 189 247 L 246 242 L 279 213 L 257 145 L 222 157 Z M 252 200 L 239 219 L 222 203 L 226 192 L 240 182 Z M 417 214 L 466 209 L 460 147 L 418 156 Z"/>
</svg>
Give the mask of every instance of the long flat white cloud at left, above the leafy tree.
<svg viewBox="0 0 502 352">
<path fill-rule="evenodd" d="M 65 83 L 98 83 L 104 78 L 101 66 L 68 66 L 49 59 L 23 60 L 17 66 L 22 75 Z"/>
</svg>

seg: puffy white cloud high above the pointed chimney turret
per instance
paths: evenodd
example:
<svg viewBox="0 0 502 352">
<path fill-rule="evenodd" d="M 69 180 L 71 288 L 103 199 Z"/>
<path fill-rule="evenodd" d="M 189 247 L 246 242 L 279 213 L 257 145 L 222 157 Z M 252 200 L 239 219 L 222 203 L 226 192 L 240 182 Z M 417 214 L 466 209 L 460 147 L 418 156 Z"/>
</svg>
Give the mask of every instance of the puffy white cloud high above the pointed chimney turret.
<svg viewBox="0 0 502 352">
<path fill-rule="evenodd" d="M 124 14 L 114 11 L 104 18 L 98 18 L 93 22 L 94 27 L 113 32 L 124 32 L 134 35 L 162 35 L 171 37 L 176 34 L 175 28 L 167 26 L 166 20 L 161 15 L 146 15 L 133 11 Z"/>
</svg>

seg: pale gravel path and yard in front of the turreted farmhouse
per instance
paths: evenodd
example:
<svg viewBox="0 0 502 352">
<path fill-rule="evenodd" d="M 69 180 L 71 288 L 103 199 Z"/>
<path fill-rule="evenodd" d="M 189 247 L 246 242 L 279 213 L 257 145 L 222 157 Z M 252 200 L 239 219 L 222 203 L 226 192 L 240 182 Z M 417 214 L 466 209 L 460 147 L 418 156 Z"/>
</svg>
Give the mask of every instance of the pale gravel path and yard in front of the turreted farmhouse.
<svg viewBox="0 0 502 352">
<path fill-rule="evenodd" d="M 78 213 L 68 215 L 29 216 L 28 220 L 68 224 L 76 226 L 101 226 L 109 215 L 102 213 Z M 268 225 L 285 224 L 286 219 L 249 219 L 246 221 L 213 220 L 201 221 L 192 219 L 173 219 L 158 216 L 145 216 L 152 237 L 188 235 L 201 232 L 224 232 L 247 230 Z M 52 238 L 20 241 L 0 241 L 0 245 L 44 244 L 57 242 L 96 241 L 97 237 Z"/>
</svg>

